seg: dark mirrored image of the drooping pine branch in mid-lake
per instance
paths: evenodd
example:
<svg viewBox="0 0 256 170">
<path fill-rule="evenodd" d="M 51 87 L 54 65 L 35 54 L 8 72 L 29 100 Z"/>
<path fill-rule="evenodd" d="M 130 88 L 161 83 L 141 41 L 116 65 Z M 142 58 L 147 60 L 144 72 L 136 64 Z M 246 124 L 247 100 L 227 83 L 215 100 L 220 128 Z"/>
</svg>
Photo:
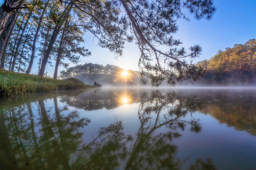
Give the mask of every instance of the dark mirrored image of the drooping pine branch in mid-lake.
<svg viewBox="0 0 256 170">
<path fill-rule="evenodd" d="M 141 126 L 138 135 L 130 139 L 132 144 L 125 158 L 125 169 L 180 169 L 183 163 L 175 158 L 177 147 L 171 141 L 181 136 L 177 129 L 184 130 L 185 125 L 191 125 L 192 131 L 200 131 L 197 120 L 182 119 L 194 112 L 197 105 L 200 105 L 197 101 L 174 94 L 142 93 L 138 110 Z M 158 131 L 161 128 L 166 130 Z"/>
</svg>

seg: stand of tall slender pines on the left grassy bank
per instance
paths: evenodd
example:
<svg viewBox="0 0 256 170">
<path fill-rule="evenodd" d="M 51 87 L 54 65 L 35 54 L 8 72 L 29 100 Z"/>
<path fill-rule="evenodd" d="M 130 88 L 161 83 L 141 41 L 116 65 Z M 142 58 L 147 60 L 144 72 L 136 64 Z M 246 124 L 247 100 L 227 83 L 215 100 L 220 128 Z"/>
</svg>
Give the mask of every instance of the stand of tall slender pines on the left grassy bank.
<svg viewBox="0 0 256 170">
<path fill-rule="evenodd" d="M 70 5 L 54 0 L 23 3 L 24 8 L 15 11 L 1 34 L 1 68 L 29 74 L 33 60 L 38 57 L 38 75 L 46 63 L 55 64 L 56 79 L 59 65 L 69 65 L 64 59 L 77 63 L 79 57 L 90 55 L 80 46 L 84 30 L 74 24 L 76 19 L 70 15 Z M 43 62 L 45 58 L 49 60 Z"/>
</svg>

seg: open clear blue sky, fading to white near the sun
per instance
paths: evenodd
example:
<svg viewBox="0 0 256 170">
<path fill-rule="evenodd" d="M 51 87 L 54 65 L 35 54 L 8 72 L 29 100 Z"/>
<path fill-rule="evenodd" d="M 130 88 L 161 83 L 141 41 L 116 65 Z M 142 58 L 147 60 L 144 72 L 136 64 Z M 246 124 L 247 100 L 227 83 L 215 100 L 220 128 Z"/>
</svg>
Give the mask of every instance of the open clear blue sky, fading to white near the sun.
<svg viewBox="0 0 256 170">
<path fill-rule="evenodd" d="M 179 30 L 174 37 L 179 38 L 184 47 L 195 44 L 202 47 L 202 55 L 195 62 L 210 59 L 218 50 L 225 50 L 226 47 L 256 38 L 256 0 L 214 0 L 214 4 L 217 11 L 212 20 L 195 20 L 190 16 L 190 22 L 183 19 L 178 21 Z M 88 48 L 92 55 L 81 58 L 79 64 L 113 64 L 124 69 L 138 70 L 140 51 L 134 43 L 126 43 L 123 56 L 115 60 L 113 53 L 96 46 L 97 40 L 92 41 L 89 32 L 84 38 L 82 45 Z M 34 73 L 37 72 L 36 62 L 33 66 Z M 55 61 L 53 63 L 55 65 Z M 47 66 L 46 70 L 48 75 L 53 75 L 54 67 Z M 59 67 L 59 70 L 63 68 Z"/>
</svg>

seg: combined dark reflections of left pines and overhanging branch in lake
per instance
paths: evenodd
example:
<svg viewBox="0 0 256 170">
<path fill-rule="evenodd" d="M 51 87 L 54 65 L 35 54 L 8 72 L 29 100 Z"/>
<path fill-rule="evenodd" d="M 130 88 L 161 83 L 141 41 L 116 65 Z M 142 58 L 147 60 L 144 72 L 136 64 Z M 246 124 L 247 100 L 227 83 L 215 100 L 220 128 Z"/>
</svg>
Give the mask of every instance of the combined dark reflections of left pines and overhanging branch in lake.
<svg viewBox="0 0 256 170">
<path fill-rule="evenodd" d="M 97 136 L 83 143 L 80 128 L 90 123 L 77 111 L 58 107 L 46 110 L 44 100 L 5 109 L 0 114 L 0 163 L 3 169 L 182 169 L 183 160 L 175 157 L 174 138 L 180 138 L 186 125 L 199 132 L 198 120 L 184 117 L 201 107 L 193 97 L 179 97 L 159 91 L 142 93 L 138 110 L 140 128 L 136 136 L 125 135 L 117 119 L 100 128 Z M 33 113 L 38 107 L 38 115 Z M 163 130 L 163 128 L 165 128 Z M 167 130 L 166 130 L 167 129 Z M 87 138 L 90 138 L 89 136 Z M 196 160 L 191 170 L 216 169 L 211 160 Z"/>
</svg>

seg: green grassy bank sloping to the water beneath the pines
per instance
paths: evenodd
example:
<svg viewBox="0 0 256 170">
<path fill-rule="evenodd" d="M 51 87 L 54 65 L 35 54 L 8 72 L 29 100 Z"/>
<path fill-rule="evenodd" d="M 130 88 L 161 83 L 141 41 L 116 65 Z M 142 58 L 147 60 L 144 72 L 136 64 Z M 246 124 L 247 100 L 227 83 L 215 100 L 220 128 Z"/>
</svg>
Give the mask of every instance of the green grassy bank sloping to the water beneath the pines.
<svg viewBox="0 0 256 170">
<path fill-rule="evenodd" d="M 54 80 L 36 75 L 28 75 L 7 70 L 0 70 L 0 96 L 15 96 L 34 92 L 48 92 L 52 90 L 88 89 L 82 81 L 70 78 L 69 80 Z"/>
</svg>

